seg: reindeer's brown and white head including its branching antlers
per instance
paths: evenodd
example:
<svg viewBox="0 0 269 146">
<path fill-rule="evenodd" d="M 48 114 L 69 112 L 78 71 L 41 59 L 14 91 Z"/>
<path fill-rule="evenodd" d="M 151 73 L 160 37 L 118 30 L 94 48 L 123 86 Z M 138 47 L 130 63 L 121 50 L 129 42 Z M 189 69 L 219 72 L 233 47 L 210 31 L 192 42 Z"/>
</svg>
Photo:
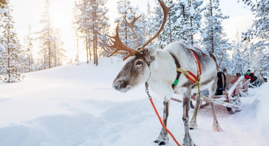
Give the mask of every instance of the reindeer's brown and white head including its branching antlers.
<svg viewBox="0 0 269 146">
<path fill-rule="evenodd" d="M 112 43 L 108 44 L 104 42 L 104 45 L 108 48 L 112 48 L 113 50 L 107 50 L 104 48 L 104 50 L 108 53 L 111 53 L 111 55 L 118 53 L 118 54 L 128 54 L 126 57 L 123 58 L 123 60 L 129 58 L 132 56 L 128 62 L 123 66 L 121 71 L 118 73 L 116 78 L 113 82 L 113 88 L 118 91 L 128 91 L 131 88 L 138 86 L 142 83 L 145 83 L 149 77 L 150 77 L 150 63 L 154 61 L 155 55 L 157 53 L 157 44 L 153 45 L 151 47 L 146 47 L 151 41 L 153 41 L 158 35 L 160 34 L 161 30 L 164 27 L 165 20 L 168 15 L 168 11 L 173 7 L 167 7 L 163 0 L 158 0 L 160 3 L 162 10 L 163 10 L 163 22 L 161 27 L 159 28 L 157 34 L 150 38 L 144 45 L 141 47 L 138 47 L 138 43 L 141 37 L 138 37 L 137 33 L 134 31 L 134 23 L 135 21 L 140 18 L 134 17 L 134 20 L 129 23 L 127 22 L 126 18 L 124 17 L 126 23 L 129 25 L 131 30 L 134 33 L 134 36 L 136 38 L 136 44 L 135 48 L 129 48 L 126 46 L 119 37 L 118 27 L 119 24 L 116 27 L 116 35 L 115 36 L 108 36 L 110 37 L 110 41 Z M 110 56 L 111 56 L 110 55 Z M 110 57 L 109 56 L 109 57 Z"/>
</svg>

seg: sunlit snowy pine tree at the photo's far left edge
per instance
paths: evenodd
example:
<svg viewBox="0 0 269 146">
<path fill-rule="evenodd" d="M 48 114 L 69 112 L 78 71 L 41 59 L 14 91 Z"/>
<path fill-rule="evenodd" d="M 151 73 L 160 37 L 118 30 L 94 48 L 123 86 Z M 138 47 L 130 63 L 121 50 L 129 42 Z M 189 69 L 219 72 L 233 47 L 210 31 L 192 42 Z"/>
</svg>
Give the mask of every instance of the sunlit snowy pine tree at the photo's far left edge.
<svg viewBox="0 0 269 146">
<path fill-rule="evenodd" d="M 10 15 L 12 9 L 9 7 L 8 1 L 5 7 L 8 10 L 8 13 L 6 13 L 3 18 L 3 37 L 0 40 L 0 43 L 5 48 L 0 51 L 0 80 L 7 83 L 13 83 L 17 80 L 20 81 L 23 78 L 20 73 L 23 68 L 22 52 L 20 50 L 21 47 L 19 46 L 18 38 L 14 32 L 14 21 L 13 17 Z"/>
</svg>

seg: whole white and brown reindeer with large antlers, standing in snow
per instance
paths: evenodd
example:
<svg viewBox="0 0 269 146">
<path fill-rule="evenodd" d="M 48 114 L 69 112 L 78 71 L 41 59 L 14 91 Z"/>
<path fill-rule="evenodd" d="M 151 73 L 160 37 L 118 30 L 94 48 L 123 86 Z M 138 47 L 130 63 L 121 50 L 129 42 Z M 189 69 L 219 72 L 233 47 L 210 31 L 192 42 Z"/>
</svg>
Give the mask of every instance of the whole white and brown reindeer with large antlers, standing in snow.
<svg viewBox="0 0 269 146">
<path fill-rule="evenodd" d="M 167 7 L 163 0 L 158 0 L 163 10 L 163 22 L 159 28 L 157 34 L 150 38 L 145 44 L 138 47 L 140 37 L 134 31 L 134 23 L 138 18 L 134 17 L 134 20 L 129 23 L 126 18 L 125 21 L 133 31 L 136 37 L 135 49 L 129 48 L 124 45 L 120 40 L 118 27 L 116 27 L 116 35 L 110 37 L 111 43 L 104 42 L 107 47 L 106 52 L 119 54 L 128 54 L 123 60 L 128 59 L 121 71 L 118 73 L 113 81 L 113 88 L 117 91 L 126 92 L 134 87 L 137 87 L 143 83 L 147 83 L 151 91 L 155 92 L 160 98 L 163 99 L 163 123 L 167 125 L 167 119 L 169 114 L 169 103 L 173 93 L 183 95 L 183 123 L 185 128 L 185 135 L 183 140 L 183 146 L 195 146 L 193 140 L 190 137 L 189 129 L 197 127 L 197 113 L 200 108 L 202 99 L 198 98 L 193 117 L 189 123 L 189 105 L 190 97 L 192 93 L 198 92 L 198 84 L 191 82 L 185 76 L 189 72 L 198 73 L 198 67 L 196 59 L 193 53 L 197 56 L 201 65 L 201 90 L 209 90 L 209 98 L 213 98 L 217 88 L 217 61 L 214 55 L 205 54 L 197 48 L 189 48 L 183 43 L 174 42 L 166 46 L 164 49 L 158 49 L 158 45 L 147 45 L 154 40 L 164 27 L 167 14 L 171 7 Z M 193 52 L 193 53 L 192 53 Z M 111 55 L 110 55 L 111 56 Z M 179 72 L 177 69 L 181 69 Z M 189 72 L 187 72 L 189 71 Z M 183 75 L 184 73 L 184 75 Z M 175 79 L 178 80 L 178 84 L 173 84 Z M 221 127 L 217 121 L 214 105 L 210 103 L 213 114 L 213 129 L 220 131 Z M 161 129 L 160 134 L 155 143 L 165 145 L 168 141 L 168 135 L 164 128 Z"/>
</svg>

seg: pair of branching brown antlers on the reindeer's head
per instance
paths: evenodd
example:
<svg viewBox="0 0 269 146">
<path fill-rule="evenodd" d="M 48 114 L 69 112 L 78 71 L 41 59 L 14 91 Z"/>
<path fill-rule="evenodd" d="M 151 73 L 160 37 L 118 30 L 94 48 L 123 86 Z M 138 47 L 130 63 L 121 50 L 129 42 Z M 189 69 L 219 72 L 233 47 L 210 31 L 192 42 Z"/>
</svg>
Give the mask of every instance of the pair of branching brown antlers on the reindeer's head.
<svg viewBox="0 0 269 146">
<path fill-rule="evenodd" d="M 118 32 L 118 27 L 119 27 L 119 23 L 116 27 L 116 35 L 115 36 L 109 36 L 109 35 L 106 35 L 108 37 L 110 37 L 110 41 L 113 43 L 110 45 L 108 43 L 106 43 L 105 41 L 103 42 L 104 45 L 108 48 L 115 48 L 115 50 L 112 52 L 111 50 L 106 50 L 104 48 L 104 50 L 108 53 L 111 53 L 111 55 L 109 55 L 108 57 L 112 56 L 113 54 L 115 53 L 118 53 L 118 54 L 127 54 L 129 52 L 129 54 L 127 56 L 125 56 L 123 58 L 123 60 L 127 59 L 128 57 L 134 55 L 135 53 L 138 53 L 138 52 L 141 52 L 143 50 L 145 50 L 145 47 L 151 42 L 153 41 L 156 37 L 158 37 L 158 35 L 160 34 L 161 30 L 163 29 L 164 25 L 165 25 L 165 22 L 166 22 L 166 18 L 167 18 L 167 15 L 168 15 L 168 12 L 169 10 L 174 6 L 171 6 L 171 7 L 167 7 L 165 5 L 165 3 L 163 2 L 163 0 L 158 0 L 158 2 L 160 3 L 161 7 L 162 7 L 162 10 L 163 10 L 163 22 L 157 32 L 157 34 L 155 36 L 153 36 L 152 38 L 150 38 L 142 47 L 140 47 L 139 51 L 137 50 L 138 49 L 138 45 L 139 45 L 139 40 L 141 39 L 141 37 L 138 37 L 137 33 L 134 31 L 134 23 L 135 21 L 141 17 L 141 15 L 137 18 L 134 17 L 133 21 L 131 23 L 129 23 L 126 18 L 123 16 L 124 20 L 126 21 L 126 23 L 129 25 L 129 27 L 131 28 L 131 30 L 134 32 L 134 36 L 136 38 L 136 44 L 135 44 L 135 49 L 132 49 L 132 48 L 129 48 L 127 47 L 119 38 L 119 32 Z"/>
</svg>

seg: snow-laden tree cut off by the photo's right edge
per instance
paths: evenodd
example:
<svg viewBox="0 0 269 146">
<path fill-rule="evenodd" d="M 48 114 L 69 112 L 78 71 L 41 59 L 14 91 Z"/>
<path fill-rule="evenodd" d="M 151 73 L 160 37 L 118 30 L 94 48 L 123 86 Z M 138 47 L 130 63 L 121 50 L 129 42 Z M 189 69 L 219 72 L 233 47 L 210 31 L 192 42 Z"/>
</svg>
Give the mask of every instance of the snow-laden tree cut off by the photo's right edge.
<svg viewBox="0 0 269 146">
<path fill-rule="evenodd" d="M 253 68 L 258 67 L 260 74 L 269 73 L 269 1 L 240 0 L 249 6 L 255 19 L 247 32 L 242 33 L 242 40 L 251 41 L 253 48 Z M 260 55 L 260 56 L 259 56 Z M 265 63 L 262 63 L 265 62 Z"/>
</svg>

